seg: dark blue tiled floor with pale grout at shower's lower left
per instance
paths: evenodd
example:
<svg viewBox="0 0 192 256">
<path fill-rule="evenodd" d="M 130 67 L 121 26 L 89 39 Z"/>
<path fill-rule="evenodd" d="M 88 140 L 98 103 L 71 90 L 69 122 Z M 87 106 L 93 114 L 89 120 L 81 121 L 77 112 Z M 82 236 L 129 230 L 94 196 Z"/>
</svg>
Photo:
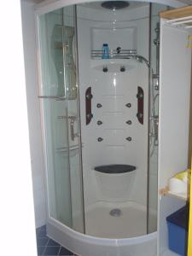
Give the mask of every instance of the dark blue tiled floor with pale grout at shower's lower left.
<svg viewBox="0 0 192 256">
<path fill-rule="evenodd" d="M 61 245 L 46 236 L 46 226 L 42 226 L 36 230 L 37 234 L 37 245 L 38 245 L 38 255 L 75 255 L 69 252 L 66 248 L 61 247 Z M 78 256 L 78 255 L 75 255 Z"/>
</svg>

